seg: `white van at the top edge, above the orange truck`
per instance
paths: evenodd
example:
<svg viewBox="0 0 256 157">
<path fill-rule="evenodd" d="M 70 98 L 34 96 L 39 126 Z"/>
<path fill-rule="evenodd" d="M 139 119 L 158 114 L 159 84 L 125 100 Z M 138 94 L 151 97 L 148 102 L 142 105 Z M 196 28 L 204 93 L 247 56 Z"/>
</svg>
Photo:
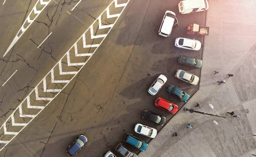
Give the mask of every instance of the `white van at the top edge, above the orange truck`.
<svg viewBox="0 0 256 157">
<path fill-rule="evenodd" d="M 179 3 L 180 14 L 202 12 L 209 9 L 207 0 L 183 0 Z"/>
</svg>

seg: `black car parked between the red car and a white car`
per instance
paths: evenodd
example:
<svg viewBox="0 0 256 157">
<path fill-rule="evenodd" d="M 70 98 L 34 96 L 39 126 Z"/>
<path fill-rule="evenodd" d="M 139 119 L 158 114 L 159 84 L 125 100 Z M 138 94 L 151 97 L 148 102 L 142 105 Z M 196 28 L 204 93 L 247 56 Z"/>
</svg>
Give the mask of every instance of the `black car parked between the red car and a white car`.
<svg viewBox="0 0 256 157">
<path fill-rule="evenodd" d="M 161 116 L 160 114 L 150 112 L 148 110 L 144 110 L 142 113 L 142 118 L 148 121 L 154 122 L 159 125 L 164 125 L 166 122 L 166 117 Z"/>
</svg>

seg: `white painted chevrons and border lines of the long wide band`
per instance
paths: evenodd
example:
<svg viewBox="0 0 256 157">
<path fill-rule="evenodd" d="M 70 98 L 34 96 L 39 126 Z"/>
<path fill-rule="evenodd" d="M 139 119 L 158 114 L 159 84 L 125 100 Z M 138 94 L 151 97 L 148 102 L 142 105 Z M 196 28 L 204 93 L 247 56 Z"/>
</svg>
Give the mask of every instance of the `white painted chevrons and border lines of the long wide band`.
<svg viewBox="0 0 256 157">
<path fill-rule="evenodd" d="M 111 5 L 115 5 L 115 7 L 123 7 L 122 11 L 119 13 L 119 14 L 115 14 L 115 15 L 111 15 L 110 17 L 107 17 L 107 18 L 112 18 L 112 17 L 117 17 L 115 19 L 115 22 L 113 23 L 113 25 L 108 25 L 106 27 L 102 26 L 100 29 L 104 29 L 104 28 L 110 28 L 108 30 L 108 32 L 105 34 L 105 35 L 93 35 L 93 24 L 81 35 L 81 37 L 75 42 L 75 44 L 73 44 L 72 47 L 70 47 L 70 49 L 65 53 L 65 55 L 62 56 L 62 58 L 58 61 L 58 63 L 56 63 L 52 69 L 46 74 L 46 76 L 44 76 L 44 78 L 36 85 L 36 87 L 29 93 L 29 95 L 26 97 L 26 99 L 24 99 L 20 105 L 13 111 L 13 113 L 11 114 L 11 116 L 9 116 L 6 121 L 3 123 L 3 125 L 0 127 L 3 128 L 4 130 L 4 134 L 9 134 L 9 135 L 13 135 L 12 139 L 7 141 L 7 140 L 0 140 L 0 143 L 3 143 L 3 148 L 6 147 L 6 145 L 8 145 L 8 143 L 10 141 L 12 141 L 18 133 L 20 133 L 20 131 L 22 131 L 27 125 L 29 125 L 30 122 L 33 121 L 33 119 L 39 114 L 41 113 L 42 110 L 44 110 L 44 108 L 47 107 L 47 105 L 49 105 L 50 102 L 52 102 L 52 100 L 58 96 L 59 93 L 61 93 L 61 91 L 68 85 L 68 83 L 73 79 L 75 78 L 75 76 L 81 71 L 81 69 L 84 67 L 84 65 L 90 60 L 90 58 L 92 57 L 92 55 L 94 54 L 94 52 L 96 52 L 96 50 L 99 48 L 99 46 L 102 44 L 102 42 L 104 41 L 104 39 L 106 38 L 106 36 L 108 35 L 108 33 L 111 31 L 111 29 L 113 28 L 114 24 L 116 23 L 116 21 L 119 19 L 120 15 L 122 14 L 122 12 L 124 11 L 125 7 L 127 6 L 127 4 L 129 3 L 130 0 L 127 1 L 127 3 L 122 3 L 122 4 L 117 4 L 117 0 L 113 0 L 110 5 L 102 12 L 101 15 L 99 15 L 99 17 L 93 22 L 93 24 L 95 24 L 96 22 L 99 22 L 102 18 L 102 15 L 103 13 L 105 12 L 109 12 L 109 7 Z M 44 2 L 44 1 L 40 1 L 41 3 Z M 48 3 L 47 3 L 48 4 Z M 100 23 L 99 23 L 100 25 Z M 87 45 L 86 44 L 86 40 L 85 40 L 85 33 L 90 31 L 91 33 L 91 39 L 93 38 L 102 38 L 102 41 L 99 43 L 99 44 L 92 44 L 92 45 Z M 16 38 L 16 37 L 15 37 Z M 18 39 L 18 38 L 17 38 Z M 79 49 L 77 48 L 77 43 L 78 41 L 82 40 L 83 41 L 83 47 L 84 48 L 90 48 L 90 47 L 96 47 L 96 49 L 93 51 L 93 53 L 79 53 Z M 87 58 L 86 61 L 84 62 L 80 62 L 80 63 L 71 63 L 70 61 L 70 50 L 75 48 L 75 58 L 76 57 L 84 57 L 84 56 L 88 56 L 89 58 Z M 79 67 L 79 70 L 78 71 L 70 71 L 70 72 L 63 72 L 62 71 L 62 65 L 61 65 L 61 62 L 65 62 L 63 61 L 63 59 L 67 57 L 67 65 L 68 66 L 81 66 Z M 58 68 L 55 68 L 55 67 L 58 67 Z M 55 80 L 55 77 L 54 77 L 54 70 L 59 70 L 59 74 L 60 75 L 73 75 L 72 78 L 70 78 L 69 80 Z M 62 87 L 61 89 L 48 89 L 47 88 L 47 80 L 46 78 L 49 77 L 49 75 L 51 75 L 51 83 L 65 83 L 64 87 Z M 56 92 L 56 94 L 54 95 L 54 97 L 52 98 L 44 98 L 44 97 L 39 97 L 39 93 L 38 93 L 38 86 L 43 84 L 44 86 L 44 93 L 46 92 Z M 30 102 L 30 95 L 31 94 L 35 94 L 35 102 L 37 101 L 41 101 L 41 100 L 44 100 L 44 101 L 47 101 L 46 102 L 46 105 L 44 106 L 35 106 L 35 105 L 31 105 L 31 102 Z M 38 111 L 37 114 L 33 114 L 33 115 L 29 115 L 29 114 L 23 114 L 23 111 L 22 111 L 22 108 L 23 108 L 23 102 L 27 102 L 27 108 L 29 109 L 40 109 L 40 111 Z M 33 102 L 32 102 L 33 103 Z M 14 117 L 14 114 L 15 112 L 19 112 L 19 117 L 20 118 L 31 118 L 29 120 L 28 123 L 15 123 L 15 117 Z M 6 123 L 12 119 L 12 126 L 23 126 L 23 128 L 21 128 L 19 131 L 17 132 L 9 132 L 7 131 L 6 129 Z M 9 126 L 10 127 L 10 126 Z M 0 149 L 0 151 L 3 150 L 3 148 Z"/>
</svg>

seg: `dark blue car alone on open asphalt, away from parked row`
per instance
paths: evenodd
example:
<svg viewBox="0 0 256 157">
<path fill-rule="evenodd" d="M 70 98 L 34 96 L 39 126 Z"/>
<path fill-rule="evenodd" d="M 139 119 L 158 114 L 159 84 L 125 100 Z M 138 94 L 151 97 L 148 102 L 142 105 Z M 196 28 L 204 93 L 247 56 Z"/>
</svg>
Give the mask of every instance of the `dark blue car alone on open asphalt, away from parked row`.
<svg viewBox="0 0 256 157">
<path fill-rule="evenodd" d="M 87 143 L 88 139 L 85 135 L 79 135 L 78 139 L 72 143 L 72 145 L 68 146 L 67 154 L 71 157 L 75 156 L 81 148 Z"/>
</svg>

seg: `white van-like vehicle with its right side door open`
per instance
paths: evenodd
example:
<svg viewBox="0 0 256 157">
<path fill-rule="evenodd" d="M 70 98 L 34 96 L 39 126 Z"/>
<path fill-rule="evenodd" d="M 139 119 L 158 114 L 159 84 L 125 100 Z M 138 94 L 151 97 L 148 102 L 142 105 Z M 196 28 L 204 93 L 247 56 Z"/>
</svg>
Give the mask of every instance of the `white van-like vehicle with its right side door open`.
<svg viewBox="0 0 256 157">
<path fill-rule="evenodd" d="M 163 16 L 163 21 L 161 23 L 158 34 L 164 37 L 169 37 L 171 35 L 172 28 L 176 26 L 179 26 L 179 23 L 175 13 L 167 10 Z"/>
</svg>

